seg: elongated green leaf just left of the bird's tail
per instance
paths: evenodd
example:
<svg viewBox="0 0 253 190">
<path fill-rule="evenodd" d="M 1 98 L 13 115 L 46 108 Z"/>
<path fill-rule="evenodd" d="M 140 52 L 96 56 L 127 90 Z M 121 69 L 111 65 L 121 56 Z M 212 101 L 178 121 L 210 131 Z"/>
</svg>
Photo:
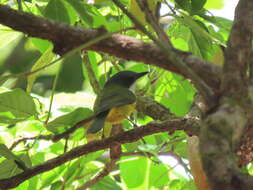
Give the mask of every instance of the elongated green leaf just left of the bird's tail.
<svg viewBox="0 0 253 190">
<path fill-rule="evenodd" d="M 73 112 L 62 115 L 49 122 L 47 129 L 55 134 L 62 133 L 74 126 L 79 121 L 90 117 L 92 113 L 93 112 L 88 108 L 77 108 Z"/>
</svg>

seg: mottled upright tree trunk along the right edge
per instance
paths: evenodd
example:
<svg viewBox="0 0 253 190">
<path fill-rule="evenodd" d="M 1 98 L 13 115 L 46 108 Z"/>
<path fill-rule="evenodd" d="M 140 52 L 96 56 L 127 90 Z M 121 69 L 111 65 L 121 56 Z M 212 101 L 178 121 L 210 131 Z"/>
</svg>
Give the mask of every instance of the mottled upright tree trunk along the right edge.
<svg viewBox="0 0 253 190">
<path fill-rule="evenodd" d="M 247 76 L 253 36 L 252 10 L 253 1 L 239 1 L 225 51 L 220 106 L 209 113 L 201 127 L 200 153 L 214 190 L 253 189 L 253 177 L 239 170 L 236 158 L 238 144 L 246 128 L 252 125 Z"/>
</svg>

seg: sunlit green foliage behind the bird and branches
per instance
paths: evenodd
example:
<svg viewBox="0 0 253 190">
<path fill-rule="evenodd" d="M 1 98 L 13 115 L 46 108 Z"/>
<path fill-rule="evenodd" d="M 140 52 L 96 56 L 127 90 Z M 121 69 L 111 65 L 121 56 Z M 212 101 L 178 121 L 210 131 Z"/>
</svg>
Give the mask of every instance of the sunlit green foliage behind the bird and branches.
<svg viewBox="0 0 253 190">
<path fill-rule="evenodd" d="M 130 0 L 121 1 L 131 9 Z M 132 26 L 131 20 L 107 0 L 95 3 L 79 0 L 24 0 L 19 4 L 7 0 L 3 2 L 9 3 L 12 8 L 23 9 L 78 27 L 105 27 L 108 31 L 115 32 Z M 175 14 L 168 9 L 173 21 L 165 30 L 173 45 L 205 60 L 215 60 L 217 64 L 222 64 L 222 55 L 217 55 L 217 52 L 222 53 L 221 46 L 227 40 L 232 22 L 210 15 L 207 9 L 222 8 L 223 1 L 168 2 Z M 164 4 L 163 1 L 162 3 Z M 144 34 L 136 30 L 125 31 L 124 34 L 149 41 Z M 52 53 L 50 42 L 27 37 L 4 26 L 0 26 L 0 42 L 2 76 L 21 73 L 19 75 L 21 77 L 0 80 L 2 82 L 0 178 L 2 179 L 22 172 L 22 167 L 16 163 L 17 160 L 22 163 L 21 165 L 31 167 L 77 145 L 87 143 L 84 127 L 78 129 L 68 140 L 57 143 L 33 139 L 20 143 L 12 151 L 6 148 L 20 137 L 59 134 L 71 128 L 92 114 L 95 95 L 89 82 L 87 63 L 81 55 L 73 53 L 36 72 L 38 68 L 47 66 L 58 58 Z M 87 56 L 100 86 L 103 86 L 106 79 L 118 70 L 150 71 L 148 77 L 138 82 L 136 91 L 154 98 L 177 116 L 186 115 L 191 108 L 196 89 L 182 76 L 99 52 L 90 51 Z M 24 80 L 25 75 L 22 73 L 27 71 L 35 73 Z M 137 125 L 148 121 L 150 118 L 147 116 L 134 115 L 134 122 Z M 132 123 L 125 121 L 124 128 L 133 128 Z M 143 140 L 145 143 L 140 140 L 122 145 L 124 152 L 132 152 L 133 155 L 121 157 L 118 161 L 119 167 L 91 189 L 195 189 L 192 178 L 189 177 L 190 173 L 181 174 L 177 167 L 174 168 L 175 165 L 166 164 L 159 157 L 160 152 L 173 151 L 179 157 L 187 159 L 185 133 L 181 131 L 174 134 L 162 133 L 144 137 Z M 140 155 L 134 155 L 134 152 Z M 150 154 L 152 156 L 147 156 Z M 167 160 L 172 159 L 167 156 Z M 108 160 L 104 151 L 91 153 L 35 176 L 15 189 L 75 189 L 90 180 Z M 188 172 L 187 166 L 184 169 Z"/>
</svg>

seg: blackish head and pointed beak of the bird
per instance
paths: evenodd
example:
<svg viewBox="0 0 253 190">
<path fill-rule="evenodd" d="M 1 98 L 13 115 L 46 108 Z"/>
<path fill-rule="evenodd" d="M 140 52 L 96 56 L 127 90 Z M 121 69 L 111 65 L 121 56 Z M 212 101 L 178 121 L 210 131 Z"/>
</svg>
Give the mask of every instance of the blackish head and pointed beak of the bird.
<svg viewBox="0 0 253 190">
<path fill-rule="evenodd" d="M 148 72 L 136 73 L 133 71 L 121 71 L 113 75 L 105 83 L 105 86 L 116 84 L 129 88 L 138 78 L 146 75 Z"/>
</svg>

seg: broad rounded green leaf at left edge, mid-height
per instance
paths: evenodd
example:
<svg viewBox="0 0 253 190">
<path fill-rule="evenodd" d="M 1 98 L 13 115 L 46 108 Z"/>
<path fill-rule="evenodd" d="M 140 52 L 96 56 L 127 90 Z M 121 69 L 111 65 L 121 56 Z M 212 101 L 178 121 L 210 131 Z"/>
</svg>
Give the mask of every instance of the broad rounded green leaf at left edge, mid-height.
<svg viewBox="0 0 253 190">
<path fill-rule="evenodd" d="M 23 119 L 37 115 L 33 98 L 22 89 L 0 94 L 0 112 L 10 112 L 15 118 Z"/>
</svg>

